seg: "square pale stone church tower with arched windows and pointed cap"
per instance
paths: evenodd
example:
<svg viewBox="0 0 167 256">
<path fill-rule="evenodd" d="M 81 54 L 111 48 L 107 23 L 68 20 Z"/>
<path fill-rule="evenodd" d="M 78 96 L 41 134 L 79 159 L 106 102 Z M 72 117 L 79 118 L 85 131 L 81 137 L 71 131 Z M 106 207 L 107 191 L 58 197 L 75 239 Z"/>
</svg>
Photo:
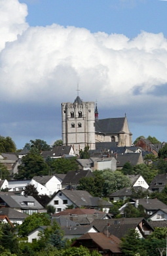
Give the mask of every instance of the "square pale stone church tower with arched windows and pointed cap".
<svg viewBox="0 0 167 256">
<path fill-rule="evenodd" d="M 62 140 L 75 154 L 85 146 L 95 149 L 94 102 L 83 102 L 78 95 L 73 103 L 62 103 Z"/>
</svg>

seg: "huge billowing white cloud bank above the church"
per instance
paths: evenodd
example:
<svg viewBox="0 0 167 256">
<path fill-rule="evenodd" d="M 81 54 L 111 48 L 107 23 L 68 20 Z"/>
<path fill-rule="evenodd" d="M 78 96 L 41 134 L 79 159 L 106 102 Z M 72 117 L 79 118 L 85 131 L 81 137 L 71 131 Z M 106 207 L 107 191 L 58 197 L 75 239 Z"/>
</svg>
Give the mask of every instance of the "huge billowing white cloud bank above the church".
<svg viewBox="0 0 167 256">
<path fill-rule="evenodd" d="M 75 98 L 79 83 L 84 100 L 97 98 L 103 106 L 139 104 L 143 98 L 153 100 L 155 86 L 167 83 L 162 33 L 141 32 L 130 40 L 57 24 L 28 28 L 26 5 L 0 0 L 0 17 L 4 10 L 0 45 L 10 42 L 0 53 L 1 100 L 60 104 Z"/>
</svg>

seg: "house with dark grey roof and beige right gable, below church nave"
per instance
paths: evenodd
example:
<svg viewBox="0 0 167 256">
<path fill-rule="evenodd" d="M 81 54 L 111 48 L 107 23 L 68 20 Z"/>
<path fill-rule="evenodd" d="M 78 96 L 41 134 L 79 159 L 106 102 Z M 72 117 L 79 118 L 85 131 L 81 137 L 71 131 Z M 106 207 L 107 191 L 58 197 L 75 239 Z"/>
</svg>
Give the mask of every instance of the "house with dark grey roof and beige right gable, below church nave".
<svg viewBox="0 0 167 256">
<path fill-rule="evenodd" d="M 131 163 L 132 166 L 144 163 L 141 153 L 127 153 L 124 155 L 117 155 L 117 169 L 122 169 L 125 163 Z"/>
</svg>

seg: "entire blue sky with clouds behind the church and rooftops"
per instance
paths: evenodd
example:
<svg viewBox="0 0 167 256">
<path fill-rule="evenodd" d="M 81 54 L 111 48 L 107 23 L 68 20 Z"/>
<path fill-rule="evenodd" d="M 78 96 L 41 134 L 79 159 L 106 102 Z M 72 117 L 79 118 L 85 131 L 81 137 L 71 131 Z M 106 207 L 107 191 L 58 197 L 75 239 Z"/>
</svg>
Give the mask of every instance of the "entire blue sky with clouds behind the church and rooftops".
<svg viewBox="0 0 167 256">
<path fill-rule="evenodd" d="M 0 135 L 61 139 L 79 85 L 100 119 L 167 141 L 166 24 L 166 0 L 0 0 Z"/>
</svg>

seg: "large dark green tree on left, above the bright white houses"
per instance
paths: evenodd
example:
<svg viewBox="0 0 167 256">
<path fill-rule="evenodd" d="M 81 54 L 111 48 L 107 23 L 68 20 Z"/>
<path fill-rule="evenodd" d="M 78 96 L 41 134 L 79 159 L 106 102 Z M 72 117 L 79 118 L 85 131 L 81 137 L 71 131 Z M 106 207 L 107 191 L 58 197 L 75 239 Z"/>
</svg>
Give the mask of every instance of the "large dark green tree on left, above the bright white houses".
<svg viewBox="0 0 167 256">
<path fill-rule="evenodd" d="M 14 179 L 31 179 L 34 176 L 48 175 L 49 167 L 41 155 L 29 153 L 22 158 L 22 164 L 18 166 L 18 173 Z"/>
</svg>

